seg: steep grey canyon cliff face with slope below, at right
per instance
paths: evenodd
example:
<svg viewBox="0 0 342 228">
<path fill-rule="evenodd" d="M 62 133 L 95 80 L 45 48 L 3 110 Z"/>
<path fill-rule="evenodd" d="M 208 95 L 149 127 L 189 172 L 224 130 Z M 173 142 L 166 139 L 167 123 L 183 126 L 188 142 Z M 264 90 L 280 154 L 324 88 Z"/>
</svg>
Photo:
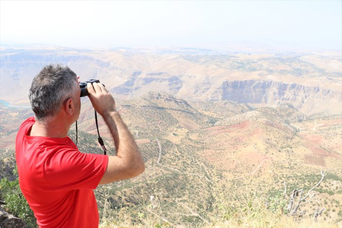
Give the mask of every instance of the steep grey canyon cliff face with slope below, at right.
<svg viewBox="0 0 342 228">
<path fill-rule="evenodd" d="M 211 96 L 211 100 L 231 100 L 268 106 L 288 103 L 306 114 L 313 111 L 339 114 L 342 92 L 319 86 L 310 87 L 268 80 L 225 81 Z"/>
</svg>

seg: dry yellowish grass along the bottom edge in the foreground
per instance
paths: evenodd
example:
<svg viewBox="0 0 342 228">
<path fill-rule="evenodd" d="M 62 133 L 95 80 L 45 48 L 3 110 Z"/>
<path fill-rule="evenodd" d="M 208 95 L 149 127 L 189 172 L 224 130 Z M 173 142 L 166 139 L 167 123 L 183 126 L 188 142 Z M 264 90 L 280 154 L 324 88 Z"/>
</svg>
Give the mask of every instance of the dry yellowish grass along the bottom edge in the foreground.
<svg viewBox="0 0 342 228">
<path fill-rule="evenodd" d="M 342 219 L 327 221 L 323 216 L 319 216 L 317 221 L 314 221 L 307 215 L 303 217 L 287 215 L 286 201 L 281 196 L 266 199 L 262 196 L 246 195 L 242 197 L 239 205 L 229 201 L 223 194 L 214 195 L 214 197 L 216 200 L 212 205 L 212 210 L 199 215 L 200 222 L 197 223 L 173 224 L 162 217 L 162 208 L 158 200 L 157 205 L 153 205 L 151 202 L 137 199 L 138 204 L 142 206 L 140 211 L 117 210 L 112 213 L 111 218 L 103 219 L 100 228 L 342 227 Z M 270 202 L 267 208 L 265 200 Z M 132 217 L 134 215 L 135 218 Z M 139 216 L 140 218 L 137 218 Z M 137 220 L 139 222 L 133 222 Z"/>
</svg>

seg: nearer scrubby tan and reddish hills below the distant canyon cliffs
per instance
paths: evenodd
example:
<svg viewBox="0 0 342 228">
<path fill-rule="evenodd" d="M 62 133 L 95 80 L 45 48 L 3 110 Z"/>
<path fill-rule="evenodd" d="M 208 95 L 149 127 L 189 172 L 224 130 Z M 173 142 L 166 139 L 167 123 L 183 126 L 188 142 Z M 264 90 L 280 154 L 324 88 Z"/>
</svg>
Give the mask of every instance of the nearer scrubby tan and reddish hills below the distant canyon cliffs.
<svg viewBox="0 0 342 228">
<path fill-rule="evenodd" d="M 116 99 L 116 104 L 142 152 L 146 170 L 138 178 L 95 190 L 102 221 L 124 219 L 117 217 L 124 213 L 132 224 L 146 224 L 149 216 L 175 225 L 211 222 L 222 198 L 238 210 L 248 195 L 260 200 L 277 197 L 284 191 L 284 181 L 287 195 L 295 188 L 307 191 L 320 180 L 320 170 L 328 173 L 315 189 L 321 194 L 300 211 L 309 218 L 315 207 L 325 207 L 320 221 L 342 219 L 341 115 L 307 116 L 289 104 L 253 108 L 224 100 L 194 102 L 165 92 Z M 11 176 L 16 130 L 32 113 L 1 108 L 0 156 L 5 168 L 0 174 Z M 109 155 L 115 155 L 101 117 L 99 123 Z M 93 109 L 84 98 L 79 119 L 81 151 L 102 153 L 96 134 Z M 70 137 L 75 140 L 74 126 Z"/>
</svg>

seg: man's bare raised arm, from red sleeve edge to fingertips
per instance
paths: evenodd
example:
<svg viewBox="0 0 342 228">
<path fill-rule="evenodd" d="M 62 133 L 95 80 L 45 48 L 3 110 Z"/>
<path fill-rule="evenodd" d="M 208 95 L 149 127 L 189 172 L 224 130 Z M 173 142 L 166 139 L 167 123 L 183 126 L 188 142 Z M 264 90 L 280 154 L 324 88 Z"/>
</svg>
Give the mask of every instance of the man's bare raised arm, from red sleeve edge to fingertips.
<svg viewBox="0 0 342 228">
<path fill-rule="evenodd" d="M 145 170 L 139 148 L 115 110 L 113 96 L 100 83 L 87 84 L 89 98 L 94 109 L 102 115 L 113 137 L 116 156 L 108 156 L 108 164 L 100 185 L 125 180 L 139 175 Z"/>
</svg>

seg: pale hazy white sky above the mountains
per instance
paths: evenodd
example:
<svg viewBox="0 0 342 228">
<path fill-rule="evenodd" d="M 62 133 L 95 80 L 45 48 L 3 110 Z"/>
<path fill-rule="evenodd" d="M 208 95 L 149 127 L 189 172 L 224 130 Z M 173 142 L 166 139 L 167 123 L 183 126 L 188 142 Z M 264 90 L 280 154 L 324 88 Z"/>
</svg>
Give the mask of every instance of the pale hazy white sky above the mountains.
<svg viewBox="0 0 342 228">
<path fill-rule="evenodd" d="M 342 1 L 4 1 L 1 43 L 342 49 Z"/>
</svg>

